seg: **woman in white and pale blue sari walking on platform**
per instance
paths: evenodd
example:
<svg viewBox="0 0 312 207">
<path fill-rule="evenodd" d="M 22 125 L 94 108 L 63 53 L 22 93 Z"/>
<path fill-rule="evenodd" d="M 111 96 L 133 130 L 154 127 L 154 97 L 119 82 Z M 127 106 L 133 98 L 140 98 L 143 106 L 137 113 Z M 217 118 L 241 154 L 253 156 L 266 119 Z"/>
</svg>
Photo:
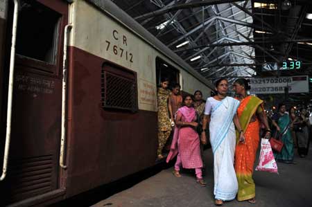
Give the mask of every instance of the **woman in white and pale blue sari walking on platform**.
<svg viewBox="0 0 312 207">
<path fill-rule="evenodd" d="M 206 127 L 209 123 L 210 143 L 214 153 L 214 196 L 215 204 L 236 197 L 238 183 L 234 170 L 236 145 L 235 127 L 240 133 L 239 141 L 244 142 L 243 130 L 236 115 L 239 101 L 227 97 L 228 82 L 221 78 L 216 82 L 216 96 L 207 98 L 205 116 L 202 123 L 202 143 L 207 143 Z"/>
</svg>

